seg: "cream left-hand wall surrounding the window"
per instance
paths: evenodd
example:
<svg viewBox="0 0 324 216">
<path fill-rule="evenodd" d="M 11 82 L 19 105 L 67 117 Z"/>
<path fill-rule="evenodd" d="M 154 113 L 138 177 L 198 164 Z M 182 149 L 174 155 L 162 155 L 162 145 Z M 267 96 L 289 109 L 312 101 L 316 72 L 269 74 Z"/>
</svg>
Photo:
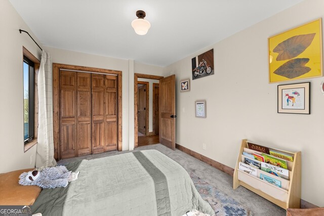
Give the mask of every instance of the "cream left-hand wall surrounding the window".
<svg viewBox="0 0 324 216">
<path fill-rule="evenodd" d="M 27 34 L 20 34 L 19 28 L 37 40 L 9 1 L 1 1 L 0 173 L 35 165 L 36 146 L 24 153 L 22 47 L 39 59 L 41 50 Z"/>
</svg>

